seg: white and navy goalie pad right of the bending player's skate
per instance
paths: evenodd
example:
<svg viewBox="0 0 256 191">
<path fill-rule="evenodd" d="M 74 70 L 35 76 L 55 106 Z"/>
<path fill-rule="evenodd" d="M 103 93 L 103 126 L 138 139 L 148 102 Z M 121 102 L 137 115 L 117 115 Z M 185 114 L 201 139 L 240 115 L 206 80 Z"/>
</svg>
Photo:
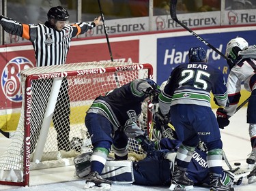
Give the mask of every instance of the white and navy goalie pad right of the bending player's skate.
<svg viewBox="0 0 256 191">
<path fill-rule="evenodd" d="M 111 160 L 106 161 L 102 171 L 102 178 L 111 180 L 117 184 L 132 184 L 134 175 L 132 161 L 130 160 Z"/>
</svg>

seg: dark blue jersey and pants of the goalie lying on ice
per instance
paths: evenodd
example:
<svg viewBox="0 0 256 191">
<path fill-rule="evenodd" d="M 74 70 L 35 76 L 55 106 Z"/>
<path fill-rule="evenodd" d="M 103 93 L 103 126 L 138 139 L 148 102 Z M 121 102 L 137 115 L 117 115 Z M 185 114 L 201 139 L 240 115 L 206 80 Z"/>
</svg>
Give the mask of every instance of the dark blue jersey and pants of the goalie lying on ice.
<svg viewBox="0 0 256 191">
<path fill-rule="evenodd" d="M 147 156 L 139 162 L 133 163 L 134 184 L 147 186 L 171 184 L 171 169 L 173 162 L 165 159 L 165 154 L 180 145 L 180 141 L 171 139 L 160 139 L 160 147 L 163 150 L 156 152 L 154 155 Z M 207 154 L 198 148 L 193 153 L 193 158 L 186 171 L 187 176 L 194 181 L 195 185 L 210 184 L 209 169 L 206 162 Z M 150 168 L 149 168 L 150 167 Z M 230 184 L 230 179 L 225 172 L 222 173 L 223 182 Z"/>
</svg>

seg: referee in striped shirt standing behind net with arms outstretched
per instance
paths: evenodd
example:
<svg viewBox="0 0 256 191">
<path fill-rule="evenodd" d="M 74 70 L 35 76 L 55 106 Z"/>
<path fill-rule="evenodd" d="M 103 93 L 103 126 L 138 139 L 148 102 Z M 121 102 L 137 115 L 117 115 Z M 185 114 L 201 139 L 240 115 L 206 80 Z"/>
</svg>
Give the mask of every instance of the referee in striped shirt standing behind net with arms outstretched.
<svg viewBox="0 0 256 191">
<path fill-rule="evenodd" d="M 7 33 L 18 35 L 31 41 L 35 51 L 37 67 L 65 64 L 72 37 L 76 37 L 76 35 L 83 34 L 89 29 L 98 26 L 101 18 L 99 16 L 94 22 L 68 24 L 68 11 L 61 6 L 52 7 L 48 11 L 47 16 L 48 21 L 44 24 L 22 24 L 11 18 L 0 16 L 0 24 Z M 53 80 L 51 80 L 50 85 L 46 85 L 46 80 L 37 81 L 34 82 L 37 85 L 32 87 L 31 153 L 35 149 L 42 126 L 43 118 L 39 118 L 39 116 L 44 116 L 36 114 L 35 110 L 44 114 L 47 101 L 42 103 L 42 97 L 48 99 L 53 84 Z M 43 92 L 39 92 L 37 87 L 40 87 L 40 90 L 43 90 Z M 35 90 L 35 88 L 38 90 Z M 35 107 L 35 104 L 39 106 Z M 53 124 L 57 131 L 58 150 L 68 152 L 70 150 L 70 99 L 68 96 L 68 80 L 66 78 L 63 78 L 59 90 L 53 113 Z"/>
</svg>

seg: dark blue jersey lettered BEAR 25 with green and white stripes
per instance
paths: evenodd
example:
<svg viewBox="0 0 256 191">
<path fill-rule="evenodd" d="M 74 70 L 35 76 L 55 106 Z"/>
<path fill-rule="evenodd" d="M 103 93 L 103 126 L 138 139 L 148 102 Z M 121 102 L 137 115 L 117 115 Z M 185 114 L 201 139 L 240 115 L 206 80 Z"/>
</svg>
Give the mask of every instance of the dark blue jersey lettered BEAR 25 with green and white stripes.
<svg viewBox="0 0 256 191">
<path fill-rule="evenodd" d="M 210 92 L 219 105 L 227 103 L 227 87 L 223 73 L 205 63 L 186 63 L 173 69 L 159 96 L 162 114 L 170 105 L 195 104 L 210 107 Z"/>
</svg>

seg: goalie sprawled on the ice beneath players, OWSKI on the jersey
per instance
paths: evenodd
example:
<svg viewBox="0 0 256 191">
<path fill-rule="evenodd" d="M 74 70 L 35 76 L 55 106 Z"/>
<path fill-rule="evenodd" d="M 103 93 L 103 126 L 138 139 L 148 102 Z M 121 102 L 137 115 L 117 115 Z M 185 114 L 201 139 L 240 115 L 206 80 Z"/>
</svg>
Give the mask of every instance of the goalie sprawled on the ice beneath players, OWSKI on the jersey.
<svg viewBox="0 0 256 191">
<path fill-rule="evenodd" d="M 177 147 L 181 144 L 175 139 L 163 138 L 158 140 L 160 150 L 152 152 L 140 161 L 108 160 L 102 171 L 102 177 L 115 183 L 137 184 L 143 186 L 170 186 L 171 177 L 177 154 Z M 205 146 L 201 142 L 193 153 L 193 158 L 188 166 L 188 177 L 197 186 L 210 186 L 208 164 L 206 162 Z M 90 154 L 85 153 L 74 158 L 76 175 L 83 177 L 89 173 Z M 150 168 L 149 168 L 150 167 Z M 242 183 L 242 177 L 234 181 L 235 175 L 223 171 L 223 184 L 233 187 L 233 184 Z"/>
</svg>

